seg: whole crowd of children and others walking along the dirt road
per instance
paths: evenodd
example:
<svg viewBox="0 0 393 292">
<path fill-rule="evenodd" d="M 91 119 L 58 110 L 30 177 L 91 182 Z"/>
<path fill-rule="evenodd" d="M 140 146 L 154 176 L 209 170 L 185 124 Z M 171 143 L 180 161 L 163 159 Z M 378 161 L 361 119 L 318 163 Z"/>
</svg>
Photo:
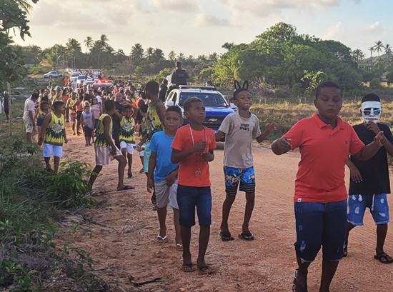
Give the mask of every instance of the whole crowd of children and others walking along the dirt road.
<svg viewBox="0 0 393 292">
<path fill-rule="evenodd" d="M 121 82 L 115 89 L 98 90 L 89 86 L 68 92 L 36 90 L 26 100 L 24 122 L 26 137 L 31 141 L 34 126 L 39 132 L 39 145 L 44 144 L 46 168 L 54 156 L 54 171 L 59 168 L 62 145 L 67 143 L 66 122 L 73 135 L 80 135 L 82 126 L 85 146 L 94 143 L 96 166 L 90 185 L 103 166 L 112 159 L 119 162 L 117 191 L 131 190 L 124 184 L 128 161 L 128 178 L 134 149 L 142 153 L 141 172 L 146 173 L 147 191 L 156 206 L 159 219 L 157 240 L 165 242 L 166 208 L 174 211 L 175 247 L 182 252 L 184 272 L 199 270 L 214 273 L 216 268 L 205 261 L 212 223 L 212 192 L 209 162 L 214 161 L 216 141 L 225 137 L 224 185 L 226 196 L 222 205 L 221 239 L 232 241 L 229 213 L 237 191 L 246 194 L 244 221 L 239 238 L 252 241 L 249 230 L 255 202 L 255 171 L 252 141 L 264 141 L 276 131 L 276 124 L 267 124 L 262 132 L 257 116 L 251 113 L 252 96 L 248 82 L 235 81 L 232 100 L 237 111 L 229 114 L 217 134 L 205 126 L 202 100 L 190 97 L 178 106 L 165 106 L 159 99 L 159 84 L 149 81 L 136 99 L 134 88 L 124 89 Z M 49 92 L 51 92 L 49 94 Z M 295 251 L 298 267 L 294 271 L 292 291 L 307 291 L 309 265 L 322 246 L 322 278 L 320 292 L 329 291 L 339 261 L 347 256 L 349 232 L 363 224 L 369 208 L 377 224 L 375 259 L 392 263 L 384 251 L 389 223 L 387 193 L 390 193 L 387 153 L 393 155 L 393 135 L 388 126 L 378 123 L 382 114 L 379 97 L 367 94 L 362 99 L 364 122 L 350 126 L 339 118 L 342 90 L 332 81 L 319 84 L 314 105 L 317 113 L 302 119 L 282 138 L 272 143 L 272 151 L 281 155 L 299 148 L 300 162 L 294 190 L 296 221 Z M 67 114 L 66 114 L 67 113 Z M 183 117 L 187 123 L 185 126 Z M 68 117 L 68 120 L 67 118 Z M 140 141 L 136 144 L 135 133 Z M 95 141 L 94 141 L 95 137 Z M 239 149 L 242 148 L 242 152 Z M 323 153 L 323 155 L 321 155 Z M 349 198 L 344 183 L 344 167 L 350 169 Z M 199 223 L 199 250 L 196 264 L 190 251 L 191 227 Z"/>
</svg>

